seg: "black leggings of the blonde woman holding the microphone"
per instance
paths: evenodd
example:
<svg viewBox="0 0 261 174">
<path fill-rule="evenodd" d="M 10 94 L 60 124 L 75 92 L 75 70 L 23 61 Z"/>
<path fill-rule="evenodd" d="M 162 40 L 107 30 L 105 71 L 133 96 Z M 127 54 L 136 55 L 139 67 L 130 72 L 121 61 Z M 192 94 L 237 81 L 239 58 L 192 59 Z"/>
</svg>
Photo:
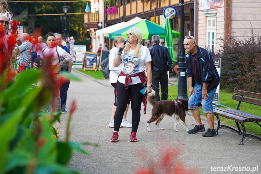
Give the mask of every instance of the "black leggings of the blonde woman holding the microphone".
<svg viewBox="0 0 261 174">
<path fill-rule="evenodd" d="M 143 89 L 142 83 L 129 85 L 128 89 L 124 89 L 124 84 L 118 82 L 118 99 L 117 109 L 114 115 L 114 131 L 119 132 L 123 114 L 127 108 L 129 96 L 132 96 L 132 132 L 137 132 L 140 121 L 140 109 L 143 95 L 140 90 Z"/>
</svg>

